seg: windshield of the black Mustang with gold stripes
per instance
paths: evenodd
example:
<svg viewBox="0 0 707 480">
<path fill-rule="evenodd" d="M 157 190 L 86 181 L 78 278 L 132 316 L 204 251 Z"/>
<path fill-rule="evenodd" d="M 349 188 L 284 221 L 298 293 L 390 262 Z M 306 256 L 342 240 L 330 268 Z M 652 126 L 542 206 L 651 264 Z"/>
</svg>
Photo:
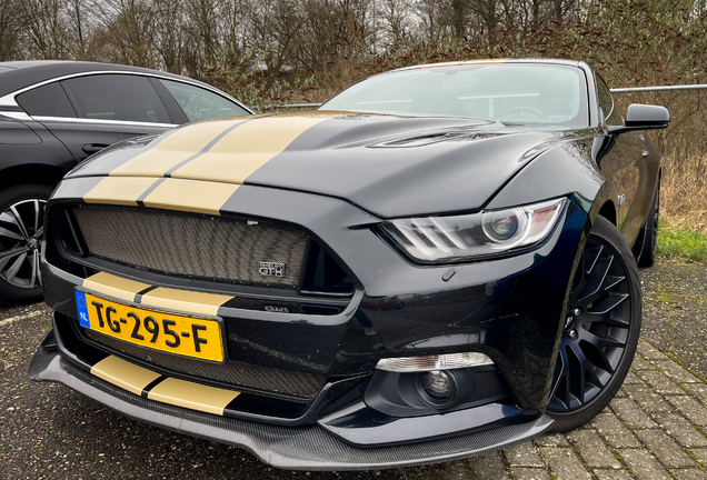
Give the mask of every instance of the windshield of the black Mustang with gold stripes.
<svg viewBox="0 0 707 480">
<path fill-rule="evenodd" d="M 319 110 L 586 127 L 582 79 L 579 69 L 555 64 L 419 68 L 370 77 Z"/>
</svg>

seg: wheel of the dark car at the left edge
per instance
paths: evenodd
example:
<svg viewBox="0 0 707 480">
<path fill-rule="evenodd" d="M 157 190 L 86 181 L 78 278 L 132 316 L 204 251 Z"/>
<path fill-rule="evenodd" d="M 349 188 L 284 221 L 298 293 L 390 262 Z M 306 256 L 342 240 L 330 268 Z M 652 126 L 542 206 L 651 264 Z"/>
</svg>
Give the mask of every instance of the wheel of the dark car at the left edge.
<svg viewBox="0 0 707 480">
<path fill-rule="evenodd" d="M 23 183 L 0 191 L 0 302 L 42 300 L 39 252 L 52 188 Z"/>
</svg>

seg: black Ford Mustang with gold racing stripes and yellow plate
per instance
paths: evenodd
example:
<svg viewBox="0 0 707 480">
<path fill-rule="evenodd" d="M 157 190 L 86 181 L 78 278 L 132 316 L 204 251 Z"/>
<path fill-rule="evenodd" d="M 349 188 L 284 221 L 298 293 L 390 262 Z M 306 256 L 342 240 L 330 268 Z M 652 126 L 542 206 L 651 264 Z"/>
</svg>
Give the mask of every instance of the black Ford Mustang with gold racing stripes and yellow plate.
<svg viewBox="0 0 707 480">
<path fill-rule="evenodd" d="M 668 122 L 586 63 L 489 60 L 114 146 L 48 203 L 30 376 L 288 469 L 575 428 L 636 349 Z"/>
</svg>

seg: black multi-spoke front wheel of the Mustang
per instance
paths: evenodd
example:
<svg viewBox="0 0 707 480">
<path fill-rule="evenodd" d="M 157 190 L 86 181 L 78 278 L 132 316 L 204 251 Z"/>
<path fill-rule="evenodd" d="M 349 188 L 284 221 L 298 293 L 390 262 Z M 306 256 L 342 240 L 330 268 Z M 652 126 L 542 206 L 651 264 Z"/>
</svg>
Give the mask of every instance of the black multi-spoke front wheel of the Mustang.
<svg viewBox="0 0 707 480">
<path fill-rule="evenodd" d="M 628 373 L 640 332 L 641 297 L 631 249 L 597 217 L 572 279 L 547 414 L 552 432 L 591 420 Z"/>
</svg>

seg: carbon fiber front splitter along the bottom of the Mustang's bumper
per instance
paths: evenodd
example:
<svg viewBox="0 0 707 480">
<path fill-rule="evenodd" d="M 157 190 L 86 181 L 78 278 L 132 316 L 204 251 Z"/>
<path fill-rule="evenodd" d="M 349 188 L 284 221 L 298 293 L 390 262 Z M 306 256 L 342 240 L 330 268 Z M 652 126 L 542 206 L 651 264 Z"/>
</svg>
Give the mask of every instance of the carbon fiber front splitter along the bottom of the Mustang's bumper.
<svg viewBox="0 0 707 480">
<path fill-rule="evenodd" d="M 547 416 L 454 438 L 396 447 L 357 448 L 318 426 L 280 427 L 217 417 L 148 400 L 79 369 L 59 351 L 40 348 L 30 378 L 62 383 L 127 417 L 176 432 L 232 444 L 273 467 L 295 470 L 367 470 L 412 467 L 480 456 L 542 434 Z"/>
</svg>

